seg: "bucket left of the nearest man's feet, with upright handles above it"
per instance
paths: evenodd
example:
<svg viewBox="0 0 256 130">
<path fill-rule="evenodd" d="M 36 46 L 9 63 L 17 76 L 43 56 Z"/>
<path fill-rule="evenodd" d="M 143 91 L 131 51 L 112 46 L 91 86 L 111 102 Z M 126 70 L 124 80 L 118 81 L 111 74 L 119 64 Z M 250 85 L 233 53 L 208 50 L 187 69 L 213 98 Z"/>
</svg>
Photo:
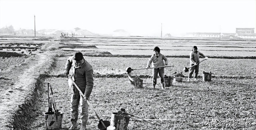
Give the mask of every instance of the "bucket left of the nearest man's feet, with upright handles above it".
<svg viewBox="0 0 256 130">
<path fill-rule="evenodd" d="M 48 130 L 58 130 L 62 128 L 62 118 L 63 118 L 63 113 L 59 111 L 58 116 L 54 114 L 54 112 L 47 112 L 44 113 L 44 122 L 45 122 L 45 127 Z"/>
</svg>

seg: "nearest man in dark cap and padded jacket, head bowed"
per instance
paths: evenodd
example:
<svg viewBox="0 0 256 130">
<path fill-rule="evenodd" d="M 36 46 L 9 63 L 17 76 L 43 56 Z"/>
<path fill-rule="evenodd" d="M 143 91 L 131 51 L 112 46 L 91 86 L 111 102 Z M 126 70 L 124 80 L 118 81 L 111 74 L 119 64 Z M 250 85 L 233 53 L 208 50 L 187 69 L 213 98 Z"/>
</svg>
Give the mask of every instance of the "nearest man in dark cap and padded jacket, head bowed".
<svg viewBox="0 0 256 130">
<path fill-rule="evenodd" d="M 70 69 L 72 69 L 72 79 L 75 81 L 75 83 L 78 85 L 82 93 L 85 93 L 86 99 L 89 99 L 89 96 L 92 92 L 93 88 L 93 70 L 92 66 L 84 59 L 83 54 L 81 52 L 76 52 L 74 56 L 71 56 L 68 58 L 64 70 L 64 74 L 68 75 Z M 68 80 L 68 85 L 72 88 L 72 95 L 71 95 L 71 122 L 72 126 L 69 128 L 69 130 L 74 130 L 77 128 L 77 120 L 78 120 L 78 107 L 79 103 L 82 109 L 81 113 L 81 120 L 82 120 L 82 126 L 80 130 L 86 130 L 86 123 L 88 120 L 88 108 L 89 105 L 85 101 L 84 97 L 79 94 L 78 89 L 72 81 Z"/>
</svg>

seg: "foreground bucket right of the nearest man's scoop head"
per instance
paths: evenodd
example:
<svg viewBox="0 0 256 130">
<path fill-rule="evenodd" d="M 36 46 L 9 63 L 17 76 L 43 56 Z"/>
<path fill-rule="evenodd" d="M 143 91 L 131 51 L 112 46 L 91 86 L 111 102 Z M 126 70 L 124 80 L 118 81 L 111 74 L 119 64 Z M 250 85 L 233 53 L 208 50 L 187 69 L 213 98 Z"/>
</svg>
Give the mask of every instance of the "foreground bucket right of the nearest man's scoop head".
<svg viewBox="0 0 256 130">
<path fill-rule="evenodd" d="M 111 114 L 110 126 L 116 127 L 116 130 L 127 130 L 130 117 L 123 114 L 117 115 L 117 113 Z"/>
</svg>

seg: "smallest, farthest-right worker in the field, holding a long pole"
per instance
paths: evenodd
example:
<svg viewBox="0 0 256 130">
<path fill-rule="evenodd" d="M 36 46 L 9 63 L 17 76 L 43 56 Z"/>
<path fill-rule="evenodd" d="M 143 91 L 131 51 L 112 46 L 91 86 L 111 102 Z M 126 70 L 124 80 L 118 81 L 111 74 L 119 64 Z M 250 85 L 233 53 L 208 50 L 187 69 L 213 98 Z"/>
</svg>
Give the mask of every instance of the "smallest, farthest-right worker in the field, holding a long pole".
<svg viewBox="0 0 256 130">
<path fill-rule="evenodd" d="M 198 72 L 199 72 L 199 57 L 202 56 L 208 59 L 208 57 L 204 56 L 203 53 L 199 52 L 197 50 L 197 47 L 194 46 L 192 49 L 192 52 L 190 52 L 189 58 L 190 58 L 190 67 L 197 64 L 196 66 L 193 66 L 192 68 L 189 69 L 189 76 L 188 76 L 188 81 L 192 79 L 192 74 L 194 73 L 194 81 L 198 81 Z"/>
</svg>

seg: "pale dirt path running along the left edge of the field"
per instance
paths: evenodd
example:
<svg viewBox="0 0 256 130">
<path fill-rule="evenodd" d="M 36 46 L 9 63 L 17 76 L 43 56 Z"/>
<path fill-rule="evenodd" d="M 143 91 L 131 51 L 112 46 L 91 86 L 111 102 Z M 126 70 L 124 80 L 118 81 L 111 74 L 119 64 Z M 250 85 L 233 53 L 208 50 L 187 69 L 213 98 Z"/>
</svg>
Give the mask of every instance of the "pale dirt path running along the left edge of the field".
<svg viewBox="0 0 256 130">
<path fill-rule="evenodd" d="M 47 52 L 36 53 L 34 55 L 34 60 L 27 63 L 26 69 L 17 76 L 13 84 L 6 86 L 4 89 L 0 90 L 0 129 L 10 130 L 7 127 L 8 121 L 11 119 L 10 112 L 18 109 L 18 105 L 24 103 L 25 97 L 34 89 L 35 79 L 38 78 L 40 74 L 40 68 L 44 62 L 46 62 Z"/>
</svg>

